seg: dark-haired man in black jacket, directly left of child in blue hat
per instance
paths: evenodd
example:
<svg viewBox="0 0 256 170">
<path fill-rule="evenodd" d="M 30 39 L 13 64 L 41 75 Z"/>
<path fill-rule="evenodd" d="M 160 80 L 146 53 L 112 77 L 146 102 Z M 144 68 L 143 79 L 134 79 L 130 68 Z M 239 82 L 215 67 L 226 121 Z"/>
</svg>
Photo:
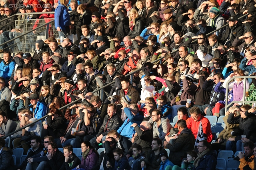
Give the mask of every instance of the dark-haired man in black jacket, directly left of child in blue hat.
<svg viewBox="0 0 256 170">
<path fill-rule="evenodd" d="M 162 147 L 162 140 L 159 138 L 153 138 L 152 149 L 148 151 L 146 159 L 141 162 L 141 167 L 146 165 L 148 170 L 158 169 L 161 163 L 160 152 L 164 150 Z"/>
</svg>

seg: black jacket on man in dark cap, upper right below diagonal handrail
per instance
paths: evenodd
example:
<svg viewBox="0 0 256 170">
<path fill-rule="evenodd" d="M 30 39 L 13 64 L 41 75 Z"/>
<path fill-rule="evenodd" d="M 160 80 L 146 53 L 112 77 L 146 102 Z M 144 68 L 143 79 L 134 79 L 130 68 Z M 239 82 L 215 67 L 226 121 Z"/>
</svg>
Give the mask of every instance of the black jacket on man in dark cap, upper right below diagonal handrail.
<svg viewBox="0 0 256 170">
<path fill-rule="evenodd" d="M 234 27 L 226 26 L 224 33 L 222 34 L 222 44 L 226 45 L 227 47 L 232 46 L 232 43 L 236 37 L 240 37 L 244 34 L 244 29 L 239 25 L 236 24 Z"/>
</svg>

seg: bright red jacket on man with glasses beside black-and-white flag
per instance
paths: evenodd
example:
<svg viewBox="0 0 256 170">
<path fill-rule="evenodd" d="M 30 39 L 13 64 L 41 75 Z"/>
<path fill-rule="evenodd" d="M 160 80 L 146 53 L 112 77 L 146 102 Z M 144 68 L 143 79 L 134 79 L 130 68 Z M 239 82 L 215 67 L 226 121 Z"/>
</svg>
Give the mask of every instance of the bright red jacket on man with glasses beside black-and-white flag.
<svg viewBox="0 0 256 170">
<path fill-rule="evenodd" d="M 202 120 L 203 132 L 204 132 L 204 134 L 207 135 L 207 141 L 211 142 L 212 139 L 213 139 L 213 135 L 212 135 L 210 121 L 207 118 L 205 118 L 204 116 L 202 116 L 202 115 L 201 115 L 201 119 L 200 120 Z M 194 121 L 194 119 L 192 119 L 190 117 L 186 121 L 187 122 L 187 128 L 191 129 L 193 135 L 195 136 L 195 139 L 196 139 L 196 136 L 197 136 L 197 133 L 198 133 L 198 128 L 199 128 L 199 125 L 200 125 L 200 120 Z"/>
</svg>

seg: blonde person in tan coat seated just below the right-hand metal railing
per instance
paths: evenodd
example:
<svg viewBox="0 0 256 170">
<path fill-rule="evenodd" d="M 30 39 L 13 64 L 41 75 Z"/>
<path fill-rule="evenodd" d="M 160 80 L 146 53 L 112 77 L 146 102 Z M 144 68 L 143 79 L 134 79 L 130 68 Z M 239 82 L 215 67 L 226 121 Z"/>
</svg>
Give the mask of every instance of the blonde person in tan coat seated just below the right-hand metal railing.
<svg viewBox="0 0 256 170">
<path fill-rule="evenodd" d="M 225 150 L 226 143 L 230 141 L 229 139 L 235 137 L 231 135 L 231 132 L 235 131 L 235 129 L 238 129 L 239 124 L 229 124 L 227 120 L 230 113 L 234 113 L 234 117 L 240 116 L 240 112 L 236 110 L 236 108 L 236 106 L 230 107 L 225 113 L 225 117 L 222 118 L 225 123 L 225 128 L 223 129 L 223 131 L 220 132 L 218 138 L 216 139 L 216 142 L 212 143 L 211 146 L 214 150 Z"/>
</svg>

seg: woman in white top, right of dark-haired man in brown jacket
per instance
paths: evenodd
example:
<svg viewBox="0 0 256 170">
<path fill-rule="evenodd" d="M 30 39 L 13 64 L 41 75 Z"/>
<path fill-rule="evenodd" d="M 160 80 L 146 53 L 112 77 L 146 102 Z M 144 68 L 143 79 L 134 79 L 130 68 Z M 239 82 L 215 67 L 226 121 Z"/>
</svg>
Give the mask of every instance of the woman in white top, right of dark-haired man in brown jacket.
<svg viewBox="0 0 256 170">
<path fill-rule="evenodd" d="M 145 76 L 141 79 L 141 101 L 145 101 L 147 97 L 151 97 L 153 90 L 155 90 L 155 82 L 150 79 L 150 76 Z"/>
</svg>

